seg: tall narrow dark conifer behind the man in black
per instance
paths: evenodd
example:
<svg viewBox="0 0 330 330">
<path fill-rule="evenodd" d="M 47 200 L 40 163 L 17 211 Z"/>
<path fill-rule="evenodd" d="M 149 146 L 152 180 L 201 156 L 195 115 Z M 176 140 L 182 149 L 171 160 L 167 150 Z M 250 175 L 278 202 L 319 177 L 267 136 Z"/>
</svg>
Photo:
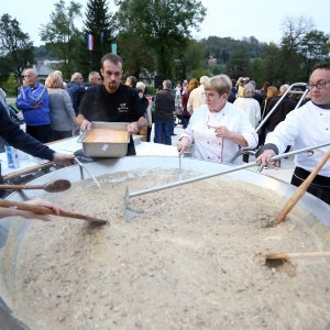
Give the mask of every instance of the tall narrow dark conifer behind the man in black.
<svg viewBox="0 0 330 330">
<path fill-rule="evenodd" d="M 84 34 L 86 37 L 92 34 L 95 42 L 95 50 L 90 54 L 92 70 L 98 70 L 101 57 L 111 52 L 111 43 L 117 33 L 116 20 L 107 2 L 107 0 L 89 0 L 85 12 Z"/>
</svg>

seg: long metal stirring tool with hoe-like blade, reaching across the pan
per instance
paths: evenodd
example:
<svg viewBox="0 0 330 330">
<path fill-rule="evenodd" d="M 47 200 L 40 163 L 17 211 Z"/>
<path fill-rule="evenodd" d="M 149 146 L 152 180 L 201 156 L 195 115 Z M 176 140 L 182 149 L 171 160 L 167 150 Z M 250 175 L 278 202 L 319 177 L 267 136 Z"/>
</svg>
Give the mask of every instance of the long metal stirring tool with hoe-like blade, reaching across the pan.
<svg viewBox="0 0 330 330">
<path fill-rule="evenodd" d="M 310 147 L 299 148 L 299 150 L 288 152 L 288 153 L 283 153 L 280 155 L 272 157 L 271 161 L 274 162 L 274 161 L 287 157 L 289 155 L 296 155 L 296 154 L 299 154 L 299 153 L 302 153 L 302 152 L 309 152 L 309 151 L 312 151 L 315 148 L 320 148 L 320 147 L 323 147 L 323 146 L 327 146 L 327 145 L 330 145 L 330 142 L 319 144 L 319 145 L 315 145 L 315 146 L 310 146 Z M 135 217 L 138 217 L 138 215 L 139 215 L 138 211 L 134 211 L 134 210 L 132 210 L 128 207 L 130 197 L 136 197 L 136 196 L 145 195 L 145 194 L 150 194 L 150 193 L 155 193 L 155 191 L 160 191 L 160 190 L 164 190 L 164 189 L 168 189 L 168 188 L 173 188 L 173 187 L 178 187 L 178 186 L 182 186 L 182 185 L 186 185 L 186 184 L 195 183 L 195 182 L 198 182 L 198 180 L 211 178 L 213 176 L 219 176 L 219 175 L 222 175 L 222 174 L 228 174 L 228 173 L 245 169 L 245 168 L 249 168 L 249 167 L 252 167 L 252 166 L 260 166 L 261 167 L 262 165 L 260 165 L 256 162 L 250 162 L 248 164 L 240 165 L 240 166 L 232 166 L 232 168 L 216 172 L 213 174 L 207 174 L 207 175 L 201 175 L 201 176 L 197 176 L 197 177 L 193 177 L 193 178 L 187 178 L 187 179 L 184 179 L 184 180 L 180 180 L 180 182 L 175 182 L 175 183 L 170 183 L 170 184 L 166 184 L 166 185 L 162 185 L 162 186 L 155 186 L 155 187 L 152 187 L 152 188 L 148 188 L 148 189 L 134 191 L 134 193 L 129 193 L 129 188 L 127 187 L 125 194 L 124 194 L 124 218 L 127 220 L 132 220 Z"/>
</svg>

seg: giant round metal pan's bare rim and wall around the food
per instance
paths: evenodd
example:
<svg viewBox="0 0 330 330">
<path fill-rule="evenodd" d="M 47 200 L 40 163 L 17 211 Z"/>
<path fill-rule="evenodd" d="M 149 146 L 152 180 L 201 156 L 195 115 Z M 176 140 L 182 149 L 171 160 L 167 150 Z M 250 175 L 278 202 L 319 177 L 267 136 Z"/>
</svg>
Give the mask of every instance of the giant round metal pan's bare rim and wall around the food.
<svg viewBox="0 0 330 330">
<path fill-rule="evenodd" d="M 138 170 L 139 173 L 143 173 L 150 169 L 156 168 L 178 168 L 178 158 L 177 157 L 163 157 L 163 156 L 136 156 L 136 157 L 124 157 L 124 158 L 111 158 L 111 160 L 102 160 L 94 163 L 86 164 L 88 169 L 95 175 L 105 175 L 105 174 L 114 174 L 117 172 L 132 172 Z M 193 158 L 184 158 L 182 163 L 184 170 L 196 172 L 199 175 L 202 174 L 212 174 L 222 169 L 226 169 L 227 165 L 221 165 L 211 162 L 205 162 Z M 235 179 L 248 184 L 253 184 L 260 187 L 267 187 L 271 190 L 276 191 L 277 194 L 289 197 L 294 187 L 274 178 L 261 175 L 258 173 L 252 170 L 239 170 L 235 173 L 227 174 L 224 176 L 227 179 Z M 33 184 L 45 184 L 51 179 L 69 179 L 70 182 L 78 182 L 84 178 L 89 179 L 88 174 L 82 172 L 78 165 L 66 167 L 54 173 L 44 175 L 33 182 Z M 10 200 L 22 201 L 25 199 L 30 199 L 36 196 L 41 196 L 43 198 L 50 199 L 51 195 L 40 190 L 31 190 L 24 193 L 15 193 L 8 197 Z M 321 200 L 315 198 L 309 194 L 305 194 L 301 200 L 298 204 L 298 207 L 305 209 L 304 219 L 301 221 L 311 222 L 311 221 L 321 221 L 326 227 L 330 227 L 330 216 L 329 216 L 329 206 L 322 202 Z M 123 220 L 124 221 L 124 220 Z M 20 238 L 24 235 L 24 230 L 31 220 L 19 220 L 16 218 L 8 218 L 0 220 L 0 253 L 1 249 L 4 245 L 12 244 L 12 249 L 16 249 L 20 244 Z M 15 241 L 11 242 L 9 238 L 9 231 L 11 228 L 15 227 Z M 10 276 L 7 274 L 6 278 L 13 278 L 15 276 L 15 260 L 10 261 L 12 264 L 10 267 Z M 8 270 L 7 270 L 8 272 Z M 20 322 L 20 316 L 16 316 L 13 310 L 11 310 L 11 306 L 8 306 L 6 302 L 6 298 L 1 296 L 1 288 L 3 285 L 10 286 L 10 283 L 4 283 L 4 276 L 1 273 L 0 268 L 0 329 L 29 329 L 25 324 Z"/>
</svg>

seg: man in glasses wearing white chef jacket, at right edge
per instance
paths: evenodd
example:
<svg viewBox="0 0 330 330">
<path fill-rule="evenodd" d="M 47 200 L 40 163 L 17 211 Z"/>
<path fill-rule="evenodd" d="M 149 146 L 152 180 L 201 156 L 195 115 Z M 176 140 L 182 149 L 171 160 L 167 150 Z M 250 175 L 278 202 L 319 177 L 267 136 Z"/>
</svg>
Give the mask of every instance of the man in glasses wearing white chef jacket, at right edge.
<svg viewBox="0 0 330 330">
<path fill-rule="evenodd" d="M 282 154 L 292 143 L 295 148 L 304 148 L 330 142 L 330 63 L 316 66 L 310 75 L 308 88 L 311 100 L 290 111 L 286 119 L 267 134 L 264 146 L 257 153 L 257 162 L 270 165 L 271 158 Z M 292 184 L 300 186 L 329 148 L 317 148 L 312 156 L 308 153 L 297 154 Z M 275 166 L 278 166 L 278 162 L 275 162 Z M 329 161 L 307 191 L 330 205 Z"/>
</svg>

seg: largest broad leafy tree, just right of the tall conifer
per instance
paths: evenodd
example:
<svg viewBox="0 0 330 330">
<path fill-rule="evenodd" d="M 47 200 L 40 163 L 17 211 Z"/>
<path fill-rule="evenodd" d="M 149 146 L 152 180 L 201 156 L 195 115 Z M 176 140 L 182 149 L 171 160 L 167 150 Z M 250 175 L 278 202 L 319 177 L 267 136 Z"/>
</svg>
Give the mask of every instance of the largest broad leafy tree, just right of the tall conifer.
<svg viewBox="0 0 330 330">
<path fill-rule="evenodd" d="M 117 13 L 122 32 L 141 36 L 153 50 L 157 74 L 170 78 L 173 63 L 188 45 L 190 30 L 198 28 L 206 14 L 197 0 L 118 0 Z M 122 50 L 120 53 L 130 52 Z"/>
</svg>

